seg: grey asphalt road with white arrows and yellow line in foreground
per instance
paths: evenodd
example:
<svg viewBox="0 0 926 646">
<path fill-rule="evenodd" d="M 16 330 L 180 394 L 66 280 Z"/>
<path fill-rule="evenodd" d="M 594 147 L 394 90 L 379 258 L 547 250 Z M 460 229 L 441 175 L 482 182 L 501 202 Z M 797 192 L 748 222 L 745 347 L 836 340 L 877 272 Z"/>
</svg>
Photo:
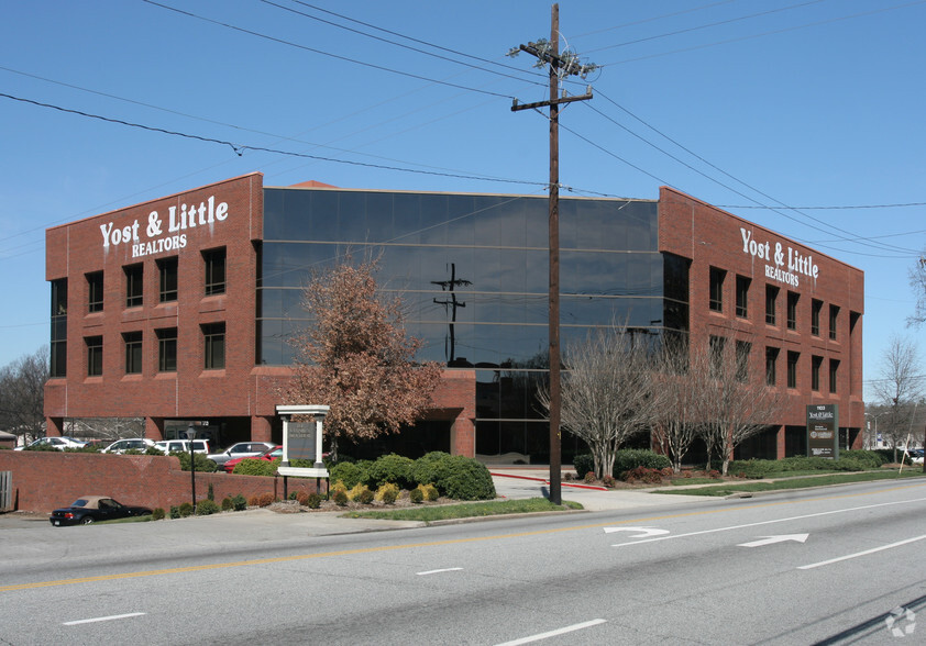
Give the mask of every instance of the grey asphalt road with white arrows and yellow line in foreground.
<svg viewBox="0 0 926 646">
<path fill-rule="evenodd" d="M 922 480 L 346 535 L 307 515 L 4 526 L 0 644 L 926 643 Z"/>
</svg>

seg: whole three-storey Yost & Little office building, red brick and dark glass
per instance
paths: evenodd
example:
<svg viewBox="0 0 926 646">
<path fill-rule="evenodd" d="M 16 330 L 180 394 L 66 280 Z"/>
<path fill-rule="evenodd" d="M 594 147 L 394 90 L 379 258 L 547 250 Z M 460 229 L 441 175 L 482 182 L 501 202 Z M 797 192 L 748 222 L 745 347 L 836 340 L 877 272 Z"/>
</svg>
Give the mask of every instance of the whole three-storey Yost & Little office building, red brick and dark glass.
<svg viewBox="0 0 926 646">
<path fill-rule="evenodd" d="M 545 222 L 545 198 L 276 188 L 252 174 L 49 229 L 49 434 L 120 416 L 152 438 L 195 422 L 221 444 L 278 441 L 301 287 L 371 245 L 420 358 L 447 366 L 427 419 L 388 448 L 543 461 Z M 561 201 L 561 292 L 564 346 L 619 320 L 748 348 L 793 405 L 746 455 L 803 453 L 808 403 L 839 404 L 844 446 L 856 443 L 858 269 L 663 188 L 658 201 Z M 578 448 L 565 442 L 564 457 Z"/>
</svg>

